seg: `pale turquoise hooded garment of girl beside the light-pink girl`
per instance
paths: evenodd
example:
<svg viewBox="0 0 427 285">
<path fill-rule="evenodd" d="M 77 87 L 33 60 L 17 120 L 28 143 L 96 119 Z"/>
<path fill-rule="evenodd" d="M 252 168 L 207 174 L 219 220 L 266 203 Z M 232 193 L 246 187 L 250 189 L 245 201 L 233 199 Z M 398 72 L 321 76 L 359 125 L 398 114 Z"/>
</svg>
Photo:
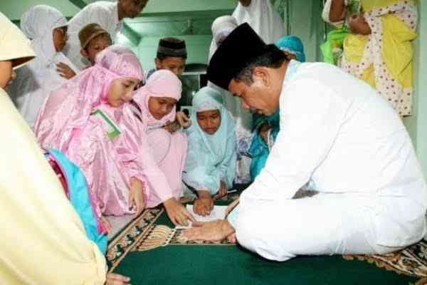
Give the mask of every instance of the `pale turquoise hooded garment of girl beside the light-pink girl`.
<svg viewBox="0 0 427 285">
<path fill-rule="evenodd" d="M 195 190 L 209 190 L 215 195 L 221 181 L 227 189 L 233 187 L 236 174 L 236 130 L 231 115 L 224 108 L 221 93 L 210 87 L 199 90 L 193 98 L 191 121 L 186 130 L 189 152 L 184 168 L 183 180 Z M 216 133 L 209 135 L 197 123 L 197 113 L 219 110 L 221 125 Z"/>
</svg>

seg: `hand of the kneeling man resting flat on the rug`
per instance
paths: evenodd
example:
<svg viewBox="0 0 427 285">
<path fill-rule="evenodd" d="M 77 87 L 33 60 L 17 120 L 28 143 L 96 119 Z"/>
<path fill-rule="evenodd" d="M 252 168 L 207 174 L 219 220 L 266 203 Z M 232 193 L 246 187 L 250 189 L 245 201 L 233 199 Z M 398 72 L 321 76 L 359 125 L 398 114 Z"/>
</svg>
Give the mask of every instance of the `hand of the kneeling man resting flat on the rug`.
<svg viewBox="0 0 427 285">
<path fill-rule="evenodd" d="M 212 222 L 194 224 L 191 229 L 182 232 L 189 240 L 220 242 L 234 234 L 235 230 L 226 219 L 216 219 Z"/>
</svg>

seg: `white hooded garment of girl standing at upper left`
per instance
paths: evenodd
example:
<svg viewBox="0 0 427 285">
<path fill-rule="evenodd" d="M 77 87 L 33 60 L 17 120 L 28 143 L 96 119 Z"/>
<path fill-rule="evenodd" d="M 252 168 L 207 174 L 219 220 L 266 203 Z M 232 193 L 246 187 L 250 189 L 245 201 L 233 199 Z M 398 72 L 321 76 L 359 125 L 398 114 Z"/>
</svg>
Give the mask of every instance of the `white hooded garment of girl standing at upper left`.
<svg viewBox="0 0 427 285">
<path fill-rule="evenodd" d="M 37 57 L 19 69 L 9 94 L 31 128 L 49 93 L 67 81 L 56 71 L 56 64 L 63 62 L 78 71 L 62 52 L 56 52 L 53 44 L 53 30 L 63 26 L 67 26 L 67 20 L 51 6 L 33 6 L 21 17 L 21 29 L 31 39 Z"/>
</svg>

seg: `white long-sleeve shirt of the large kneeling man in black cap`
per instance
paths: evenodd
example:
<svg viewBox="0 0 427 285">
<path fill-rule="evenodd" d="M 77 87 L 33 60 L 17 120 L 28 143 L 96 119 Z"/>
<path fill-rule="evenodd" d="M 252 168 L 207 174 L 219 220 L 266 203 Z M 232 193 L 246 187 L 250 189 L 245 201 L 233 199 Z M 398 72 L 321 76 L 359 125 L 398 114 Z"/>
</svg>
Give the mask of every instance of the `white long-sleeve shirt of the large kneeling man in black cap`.
<svg viewBox="0 0 427 285">
<path fill-rule="evenodd" d="M 292 65 L 280 94 L 278 138 L 229 222 L 238 227 L 238 212 L 255 211 L 265 200 L 292 199 L 311 180 L 319 192 L 381 200 L 377 216 L 394 219 L 396 227 L 385 229 L 375 220 L 378 244 L 398 247 L 418 239 L 427 187 L 398 115 L 367 83 L 335 66 L 301 63 L 289 76 Z M 399 200 L 415 206 L 394 211 Z"/>
</svg>

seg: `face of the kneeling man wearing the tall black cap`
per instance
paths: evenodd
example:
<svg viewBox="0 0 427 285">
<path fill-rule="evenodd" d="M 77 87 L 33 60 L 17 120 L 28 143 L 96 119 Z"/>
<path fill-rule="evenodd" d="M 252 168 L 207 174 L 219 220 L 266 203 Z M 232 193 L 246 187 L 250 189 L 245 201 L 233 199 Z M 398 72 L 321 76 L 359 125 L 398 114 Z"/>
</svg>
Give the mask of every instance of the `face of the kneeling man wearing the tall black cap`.
<svg viewBox="0 0 427 285">
<path fill-rule="evenodd" d="M 232 80 L 228 85 L 231 94 L 241 100 L 243 108 L 251 113 L 273 115 L 279 108 L 279 94 L 274 94 L 273 86 L 266 84 L 262 78 L 253 76 L 253 83 L 248 86 L 245 81 Z"/>
</svg>

